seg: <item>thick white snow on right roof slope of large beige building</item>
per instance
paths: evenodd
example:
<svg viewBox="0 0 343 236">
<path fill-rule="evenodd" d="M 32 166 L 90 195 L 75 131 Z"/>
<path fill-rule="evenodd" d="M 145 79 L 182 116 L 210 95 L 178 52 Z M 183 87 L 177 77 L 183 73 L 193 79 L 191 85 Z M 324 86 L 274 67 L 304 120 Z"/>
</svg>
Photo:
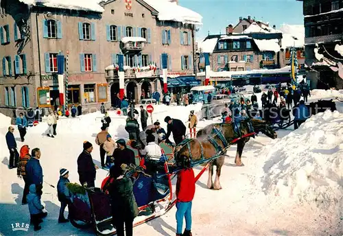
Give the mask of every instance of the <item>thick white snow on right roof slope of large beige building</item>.
<svg viewBox="0 0 343 236">
<path fill-rule="evenodd" d="M 169 0 L 144 0 L 158 11 L 160 21 L 178 21 L 194 25 L 202 25 L 202 16 L 188 8 Z"/>
</svg>

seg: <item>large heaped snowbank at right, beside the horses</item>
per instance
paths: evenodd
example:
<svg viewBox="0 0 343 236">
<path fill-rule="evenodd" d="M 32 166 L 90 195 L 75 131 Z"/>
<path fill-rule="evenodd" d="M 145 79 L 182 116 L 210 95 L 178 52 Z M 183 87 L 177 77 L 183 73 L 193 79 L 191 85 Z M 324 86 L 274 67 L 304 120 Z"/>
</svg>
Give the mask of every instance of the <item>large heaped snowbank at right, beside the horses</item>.
<svg viewBox="0 0 343 236">
<path fill-rule="evenodd" d="M 264 153 L 263 191 L 279 199 L 329 206 L 343 200 L 343 114 L 312 116 Z"/>
</svg>

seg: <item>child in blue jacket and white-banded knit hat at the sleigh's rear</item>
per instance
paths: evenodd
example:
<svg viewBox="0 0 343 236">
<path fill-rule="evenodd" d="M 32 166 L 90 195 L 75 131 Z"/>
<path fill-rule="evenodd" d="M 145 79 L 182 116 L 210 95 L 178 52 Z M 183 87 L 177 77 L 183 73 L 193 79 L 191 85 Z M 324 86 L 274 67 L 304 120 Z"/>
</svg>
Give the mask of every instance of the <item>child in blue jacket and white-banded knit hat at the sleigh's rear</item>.
<svg viewBox="0 0 343 236">
<path fill-rule="evenodd" d="M 67 204 L 71 202 L 71 193 L 67 188 L 67 183 L 69 183 L 69 171 L 67 169 L 60 169 L 60 180 L 57 183 L 57 196 L 61 203 L 60 215 L 58 216 L 58 223 L 69 222 L 68 219 L 64 218 L 64 210 Z"/>
</svg>

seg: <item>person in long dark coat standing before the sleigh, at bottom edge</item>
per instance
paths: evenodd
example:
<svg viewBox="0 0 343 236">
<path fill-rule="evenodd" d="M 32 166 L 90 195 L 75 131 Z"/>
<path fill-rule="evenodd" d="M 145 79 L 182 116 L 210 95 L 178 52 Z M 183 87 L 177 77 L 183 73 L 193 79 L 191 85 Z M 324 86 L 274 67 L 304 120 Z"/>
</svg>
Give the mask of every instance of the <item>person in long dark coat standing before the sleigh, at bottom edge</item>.
<svg viewBox="0 0 343 236">
<path fill-rule="evenodd" d="M 124 236 L 124 225 L 126 236 L 132 236 L 133 220 L 139 213 L 133 194 L 133 181 L 124 176 L 120 165 L 110 168 L 110 178 L 113 178 L 113 182 L 110 183 L 108 192 L 110 193 L 112 220 L 117 229 L 117 236 Z"/>
</svg>

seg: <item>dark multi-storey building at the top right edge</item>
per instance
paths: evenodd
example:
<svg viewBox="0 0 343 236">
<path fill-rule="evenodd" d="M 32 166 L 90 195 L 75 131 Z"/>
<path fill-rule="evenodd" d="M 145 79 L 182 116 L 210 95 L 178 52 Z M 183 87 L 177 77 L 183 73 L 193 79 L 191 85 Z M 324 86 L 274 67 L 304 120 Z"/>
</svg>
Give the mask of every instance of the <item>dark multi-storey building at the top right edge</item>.
<svg viewBox="0 0 343 236">
<path fill-rule="evenodd" d="M 343 1 L 342 0 L 298 0 L 303 1 L 305 26 L 305 63 L 310 68 L 307 79 L 311 87 L 343 88 L 343 80 L 330 65 L 343 60 L 336 45 L 342 42 L 343 35 Z M 316 58 L 317 53 L 322 56 Z"/>
</svg>

